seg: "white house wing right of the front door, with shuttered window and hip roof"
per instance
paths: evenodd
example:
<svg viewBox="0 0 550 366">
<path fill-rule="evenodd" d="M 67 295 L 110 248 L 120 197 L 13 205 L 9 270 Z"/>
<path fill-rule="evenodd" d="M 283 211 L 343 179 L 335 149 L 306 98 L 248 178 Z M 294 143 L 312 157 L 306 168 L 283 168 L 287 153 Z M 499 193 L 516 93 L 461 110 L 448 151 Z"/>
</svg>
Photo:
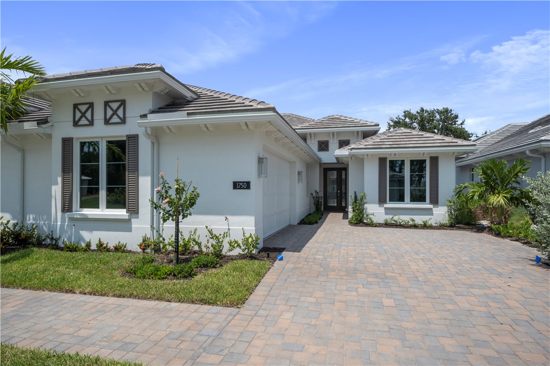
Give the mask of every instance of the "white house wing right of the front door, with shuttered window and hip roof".
<svg viewBox="0 0 550 366">
<path fill-rule="evenodd" d="M 441 221 L 453 194 L 456 155 L 475 151 L 475 143 L 397 128 L 338 149 L 349 165 L 349 192 L 365 192 L 374 220 L 399 215 Z"/>
</svg>

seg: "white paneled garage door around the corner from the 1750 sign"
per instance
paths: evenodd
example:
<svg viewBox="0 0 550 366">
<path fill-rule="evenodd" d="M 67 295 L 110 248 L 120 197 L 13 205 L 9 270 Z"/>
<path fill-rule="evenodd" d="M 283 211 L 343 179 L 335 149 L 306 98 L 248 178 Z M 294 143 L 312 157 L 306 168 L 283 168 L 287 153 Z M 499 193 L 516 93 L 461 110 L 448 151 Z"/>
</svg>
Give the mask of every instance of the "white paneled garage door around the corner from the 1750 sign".
<svg viewBox="0 0 550 366">
<path fill-rule="evenodd" d="M 263 181 L 263 237 L 290 224 L 290 162 L 267 156 L 267 178 Z"/>
</svg>

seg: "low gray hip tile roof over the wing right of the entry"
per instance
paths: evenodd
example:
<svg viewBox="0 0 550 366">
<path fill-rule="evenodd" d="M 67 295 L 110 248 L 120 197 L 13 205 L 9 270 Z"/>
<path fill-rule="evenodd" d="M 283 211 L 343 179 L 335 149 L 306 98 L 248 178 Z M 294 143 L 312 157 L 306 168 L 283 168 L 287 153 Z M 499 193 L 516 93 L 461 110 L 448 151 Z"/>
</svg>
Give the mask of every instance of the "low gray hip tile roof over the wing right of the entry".
<svg viewBox="0 0 550 366">
<path fill-rule="evenodd" d="M 416 131 L 409 128 L 396 128 L 367 137 L 354 144 L 343 147 L 341 151 L 363 149 L 403 149 L 438 147 L 475 147 L 475 143 L 458 138 L 441 136 L 434 133 Z"/>
</svg>

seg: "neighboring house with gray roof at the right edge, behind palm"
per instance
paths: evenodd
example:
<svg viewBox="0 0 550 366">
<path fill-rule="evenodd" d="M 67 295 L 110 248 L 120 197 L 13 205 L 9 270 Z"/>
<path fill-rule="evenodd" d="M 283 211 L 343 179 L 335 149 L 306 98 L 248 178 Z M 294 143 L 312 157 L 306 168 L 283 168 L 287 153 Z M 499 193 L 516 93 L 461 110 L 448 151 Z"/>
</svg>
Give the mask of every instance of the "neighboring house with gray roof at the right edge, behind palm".
<svg viewBox="0 0 550 366">
<path fill-rule="evenodd" d="M 509 163 L 519 157 L 530 160 L 527 177 L 550 169 L 550 114 L 529 123 L 510 123 L 475 140 L 475 153 L 459 156 L 456 160 L 456 184 L 474 181 L 474 168 L 481 161 L 491 158 Z M 526 185 L 526 182 L 522 182 Z"/>
</svg>

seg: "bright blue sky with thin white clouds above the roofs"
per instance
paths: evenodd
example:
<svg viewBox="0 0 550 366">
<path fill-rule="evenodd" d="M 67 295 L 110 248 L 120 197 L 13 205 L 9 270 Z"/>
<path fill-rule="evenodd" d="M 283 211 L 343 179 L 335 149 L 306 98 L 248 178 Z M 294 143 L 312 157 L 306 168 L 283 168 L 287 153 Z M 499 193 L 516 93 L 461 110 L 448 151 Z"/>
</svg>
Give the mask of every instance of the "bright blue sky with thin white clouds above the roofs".
<svg viewBox="0 0 550 366">
<path fill-rule="evenodd" d="M 382 129 L 421 106 L 477 133 L 550 112 L 548 1 L 2 1 L 0 17 L 2 48 L 48 74 L 160 63 L 279 112 Z"/>
</svg>

